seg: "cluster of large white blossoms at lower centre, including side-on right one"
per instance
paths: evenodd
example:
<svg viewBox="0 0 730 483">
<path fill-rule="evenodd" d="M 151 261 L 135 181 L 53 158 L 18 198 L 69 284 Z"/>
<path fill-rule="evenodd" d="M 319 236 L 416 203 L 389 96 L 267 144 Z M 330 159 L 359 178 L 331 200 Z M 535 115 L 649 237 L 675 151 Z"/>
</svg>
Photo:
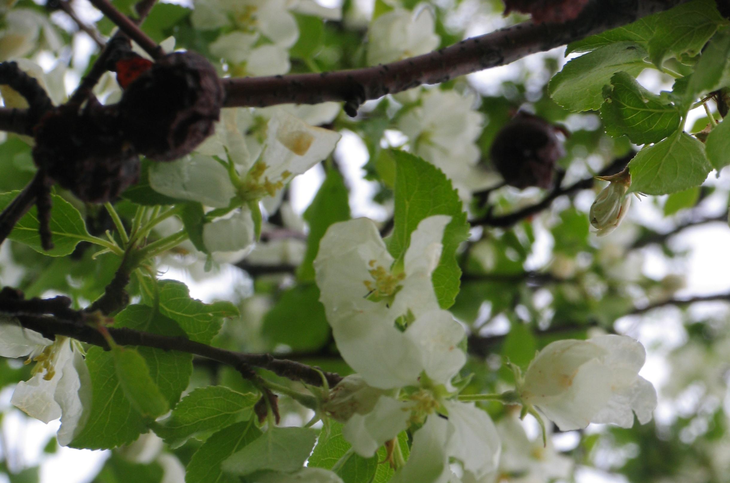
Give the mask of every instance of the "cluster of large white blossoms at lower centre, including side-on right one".
<svg viewBox="0 0 730 483">
<path fill-rule="evenodd" d="M 517 464 L 510 458 L 500 463 L 499 430 L 485 411 L 462 402 L 487 398 L 460 400 L 452 384 L 466 362 L 460 346 L 466 332 L 439 308 L 431 282 L 449 219 L 420 221 L 397 260 L 372 221 L 340 222 L 328 229 L 315 259 L 334 339 L 357 371 L 332 389 L 324 411 L 345 423 L 345 439 L 363 457 L 407 427 L 420 427 L 396 482 L 459 481 L 449 458 L 462 463 L 462 482 L 492 482 L 502 465 Z M 524 377 L 515 371 L 517 388 L 499 399 L 519 403 L 523 414 L 542 421 L 537 408 L 561 430 L 591 422 L 631 427 L 634 414 L 645 423 L 656 407 L 653 386 L 638 376 L 644 360 L 643 346 L 623 335 L 556 341 L 537 354 Z"/>
</svg>

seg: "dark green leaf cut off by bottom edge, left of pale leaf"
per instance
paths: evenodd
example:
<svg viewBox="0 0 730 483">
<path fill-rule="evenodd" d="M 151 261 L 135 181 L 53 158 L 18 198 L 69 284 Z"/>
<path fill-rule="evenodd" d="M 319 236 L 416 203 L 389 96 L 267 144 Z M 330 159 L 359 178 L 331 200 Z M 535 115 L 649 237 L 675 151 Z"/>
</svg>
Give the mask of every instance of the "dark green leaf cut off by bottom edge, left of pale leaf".
<svg viewBox="0 0 730 483">
<path fill-rule="evenodd" d="M 259 436 L 261 430 L 253 419 L 237 422 L 210 436 L 185 468 L 185 483 L 237 483 L 239 479 L 224 474 L 220 464 Z"/>
</svg>

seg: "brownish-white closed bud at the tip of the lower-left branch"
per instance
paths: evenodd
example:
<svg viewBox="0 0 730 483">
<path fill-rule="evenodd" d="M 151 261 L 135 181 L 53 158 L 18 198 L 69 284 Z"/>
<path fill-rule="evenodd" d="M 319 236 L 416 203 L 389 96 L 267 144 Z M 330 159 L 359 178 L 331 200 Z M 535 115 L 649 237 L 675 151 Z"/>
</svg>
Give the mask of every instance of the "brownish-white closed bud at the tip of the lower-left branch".
<svg viewBox="0 0 730 483">
<path fill-rule="evenodd" d="M 336 421 L 347 422 L 353 414 L 368 414 L 385 391 L 367 385 L 360 374 L 351 374 L 333 387 L 323 409 Z"/>
</svg>

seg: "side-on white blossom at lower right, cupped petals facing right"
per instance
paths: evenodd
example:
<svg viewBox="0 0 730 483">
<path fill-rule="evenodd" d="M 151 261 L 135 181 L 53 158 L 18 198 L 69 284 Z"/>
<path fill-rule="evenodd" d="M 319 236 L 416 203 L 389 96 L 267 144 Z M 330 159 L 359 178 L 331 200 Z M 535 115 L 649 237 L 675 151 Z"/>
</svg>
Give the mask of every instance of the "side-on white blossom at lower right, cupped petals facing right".
<svg viewBox="0 0 730 483">
<path fill-rule="evenodd" d="M 530 363 L 520 396 L 564 431 L 591 422 L 631 427 L 634 414 L 644 424 L 657 402 L 654 387 L 638 375 L 645 357 L 626 335 L 556 341 Z"/>
</svg>

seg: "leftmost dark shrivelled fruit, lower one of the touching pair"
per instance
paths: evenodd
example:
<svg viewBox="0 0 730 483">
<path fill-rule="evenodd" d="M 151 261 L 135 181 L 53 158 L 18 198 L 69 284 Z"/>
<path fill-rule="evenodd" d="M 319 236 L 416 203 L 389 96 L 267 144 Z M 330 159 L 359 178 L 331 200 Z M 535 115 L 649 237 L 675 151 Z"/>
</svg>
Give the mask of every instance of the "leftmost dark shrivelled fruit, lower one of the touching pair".
<svg viewBox="0 0 730 483">
<path fill-rule="evenodd" d="M 124 140 L 114 111 L 96 102 L 81 113 L 50 110 L 39 121 L 35 140 L 38 167 L 82 201 L 111 201 L 139 179 L 139 158 Z"/>
</svg>

